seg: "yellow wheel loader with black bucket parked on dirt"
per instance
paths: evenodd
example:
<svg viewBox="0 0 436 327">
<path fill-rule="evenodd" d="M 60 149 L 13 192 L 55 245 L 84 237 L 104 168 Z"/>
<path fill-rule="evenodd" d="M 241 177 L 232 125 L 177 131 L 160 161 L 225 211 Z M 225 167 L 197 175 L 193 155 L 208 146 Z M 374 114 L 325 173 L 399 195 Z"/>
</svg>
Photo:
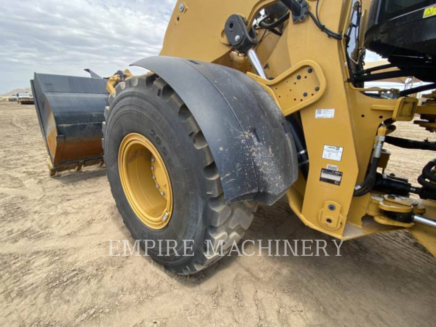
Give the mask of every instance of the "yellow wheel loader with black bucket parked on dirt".
<svg viewBox="0 0 436 327">
<path fill-rule="evenodd" d="M 364 68 L 366 51 L 388 63 Z M 415 117 L 436 130 L 436 93 L 411 96 L 436 88 L 435 0 L 178 0 L 160 54 L 132 65 L 144 74 L 31 86 L 51 174 L 104 162 L 124 223 L 167 269 L 211 265 L 205 243 L 228 251 L 284 195 L 332 238 L 407 229 L 436 255 L 436 159 L 416 187 L 384 174 L 383 149 L 436 150 L 395 137 Z M 409 76 L 424 83 L 367 86 Z"/>
</svg>

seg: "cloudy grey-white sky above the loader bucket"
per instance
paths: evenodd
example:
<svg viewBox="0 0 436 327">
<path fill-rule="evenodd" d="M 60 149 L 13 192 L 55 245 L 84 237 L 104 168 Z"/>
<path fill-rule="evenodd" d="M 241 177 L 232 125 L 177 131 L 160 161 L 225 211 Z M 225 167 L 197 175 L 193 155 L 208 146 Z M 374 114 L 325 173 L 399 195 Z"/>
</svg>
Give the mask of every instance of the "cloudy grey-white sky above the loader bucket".
<svg viewBox="0 0 436 327">
<path fill-rule="evenodd" d="M 158 54 L 175 3 L 0 0 L 0 94 L 30 86 L 34 72 L 109 76 Z"/>
</svg>

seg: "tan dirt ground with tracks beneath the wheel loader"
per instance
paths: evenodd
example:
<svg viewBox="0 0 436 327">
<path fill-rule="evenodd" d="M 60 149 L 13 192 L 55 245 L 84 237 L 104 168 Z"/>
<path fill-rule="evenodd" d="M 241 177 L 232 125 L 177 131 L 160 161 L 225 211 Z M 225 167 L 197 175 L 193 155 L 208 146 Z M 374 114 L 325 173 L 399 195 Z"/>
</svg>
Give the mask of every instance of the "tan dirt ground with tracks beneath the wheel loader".
<svg viewBox="0 0 436 327">
<path fill-rule="evenodd" d="M 433 159 L 395 150 L 392 170 L 409 177 Z M 109 239 L 131 236 L 104 167 L 50 178 L 45 156 L 34 106 L 0 103 L 1 326 L 435 326 L 436 262 L 407 232 L 334 256 L 282 200 L 259 208 L 245 238 L 325 239 L 330 256 L 232 256 L 176 276 L 149 257 L 109 256 Z"/>
</svg>

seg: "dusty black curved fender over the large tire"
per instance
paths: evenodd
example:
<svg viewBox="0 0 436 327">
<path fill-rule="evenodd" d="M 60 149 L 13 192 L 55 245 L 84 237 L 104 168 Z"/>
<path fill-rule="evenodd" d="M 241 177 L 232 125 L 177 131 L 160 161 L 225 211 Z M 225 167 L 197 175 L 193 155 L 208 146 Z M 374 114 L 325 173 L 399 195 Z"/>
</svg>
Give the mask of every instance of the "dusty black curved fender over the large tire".
<svg viewBox="0 0 436 327">
<path fill-rule="evenodd" d="M 270 205 L 296 181 L 290 127 L 252 78 L 226 66 L 165 56 L 132 65 L 163 78 L 192 112 L 214 157 L 226 203 Z"/>
</svg>

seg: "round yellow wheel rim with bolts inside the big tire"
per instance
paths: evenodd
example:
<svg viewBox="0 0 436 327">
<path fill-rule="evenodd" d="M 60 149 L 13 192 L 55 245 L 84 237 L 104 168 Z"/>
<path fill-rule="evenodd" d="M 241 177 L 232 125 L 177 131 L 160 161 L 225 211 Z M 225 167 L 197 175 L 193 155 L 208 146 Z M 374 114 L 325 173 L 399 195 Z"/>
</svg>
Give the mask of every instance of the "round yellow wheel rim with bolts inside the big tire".
<svg viewBox="0 0 436 327">
<path fill-rule="evenodd" d="M 127 134 L 119 146 L 118 170 L 136 216 L 151 229 L 168 225 L 173 191 L 167 167 L 153 143 L 141 134 Z"/>
</svg>

